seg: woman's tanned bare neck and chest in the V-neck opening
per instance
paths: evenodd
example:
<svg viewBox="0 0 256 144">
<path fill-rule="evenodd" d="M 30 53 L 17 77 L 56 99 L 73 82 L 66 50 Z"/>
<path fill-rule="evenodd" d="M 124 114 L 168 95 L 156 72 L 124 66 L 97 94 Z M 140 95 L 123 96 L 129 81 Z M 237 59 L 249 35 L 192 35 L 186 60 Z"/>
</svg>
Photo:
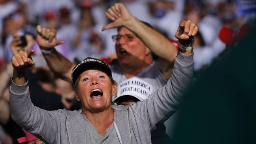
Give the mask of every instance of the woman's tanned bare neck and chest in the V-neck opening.
<svg viewBox="0 0 256 144">
<path fill-rule="evenodd" d="M 83 114 L 100 135 L 105 135 L 106 129 L 113 124 L 114 110 L 111 107 L 100 113 L 90 113 L 83 110 Z"/>
</svg>

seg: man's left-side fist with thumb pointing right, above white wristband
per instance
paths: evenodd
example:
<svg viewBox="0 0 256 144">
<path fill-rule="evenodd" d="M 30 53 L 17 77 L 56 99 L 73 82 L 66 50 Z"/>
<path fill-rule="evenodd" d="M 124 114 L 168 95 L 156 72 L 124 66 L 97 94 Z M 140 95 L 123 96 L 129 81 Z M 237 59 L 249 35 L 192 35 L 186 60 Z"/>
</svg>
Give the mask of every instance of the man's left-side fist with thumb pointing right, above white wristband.
<svg viewBox="0 0 256 144">
<path fill-rule="evenodd" d="M 37 44 L 44 50 L 49 50 L 65 41 L 56 39 L 56 30 L 54 28 L 46 28 L 37 26 Z"/>
</svg>

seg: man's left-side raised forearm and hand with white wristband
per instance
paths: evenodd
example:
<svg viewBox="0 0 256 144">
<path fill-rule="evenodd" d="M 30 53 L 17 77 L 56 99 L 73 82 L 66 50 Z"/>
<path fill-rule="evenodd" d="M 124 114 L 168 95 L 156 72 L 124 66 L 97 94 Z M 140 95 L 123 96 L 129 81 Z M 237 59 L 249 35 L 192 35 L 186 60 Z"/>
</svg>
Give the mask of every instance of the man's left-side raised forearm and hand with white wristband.
<svg viewBox="0 0 256 144">
<path fill-rule="evenodd" d="M 37 44 L 45 57 L 47 65 L 56 76 L 72 81 L 71 72 L 75 64 L 71 63 L 54 48 L 54 46 L 63 43 L 63 40 L 56 39 L 55 29 L 37 26 Z"/>
</svg>

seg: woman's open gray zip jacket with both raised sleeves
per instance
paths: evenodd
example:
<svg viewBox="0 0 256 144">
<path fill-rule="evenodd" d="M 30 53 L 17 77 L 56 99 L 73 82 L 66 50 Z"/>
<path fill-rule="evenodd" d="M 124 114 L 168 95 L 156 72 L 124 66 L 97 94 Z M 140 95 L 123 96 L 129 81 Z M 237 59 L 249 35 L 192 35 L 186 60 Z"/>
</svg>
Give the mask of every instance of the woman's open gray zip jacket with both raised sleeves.
<svg viewBox="0 0 256 144">
<path fill-rule="evenodd" d="M 193 54 L 178 53 L 173 74 L 167 84 L 147 100 L 131 105 L 112 105 L 114 126 L 121 144 L 151 144 L 150 131 L 158 122 L 167 120 L 178 108 L 193 76 Z M 46 111 L 30 100 L 29 87 L 11 84 L 11 116 L 39 139 L 50 144 L 84 144 L 85 121 L 82 110 Z"/>
</svg>

